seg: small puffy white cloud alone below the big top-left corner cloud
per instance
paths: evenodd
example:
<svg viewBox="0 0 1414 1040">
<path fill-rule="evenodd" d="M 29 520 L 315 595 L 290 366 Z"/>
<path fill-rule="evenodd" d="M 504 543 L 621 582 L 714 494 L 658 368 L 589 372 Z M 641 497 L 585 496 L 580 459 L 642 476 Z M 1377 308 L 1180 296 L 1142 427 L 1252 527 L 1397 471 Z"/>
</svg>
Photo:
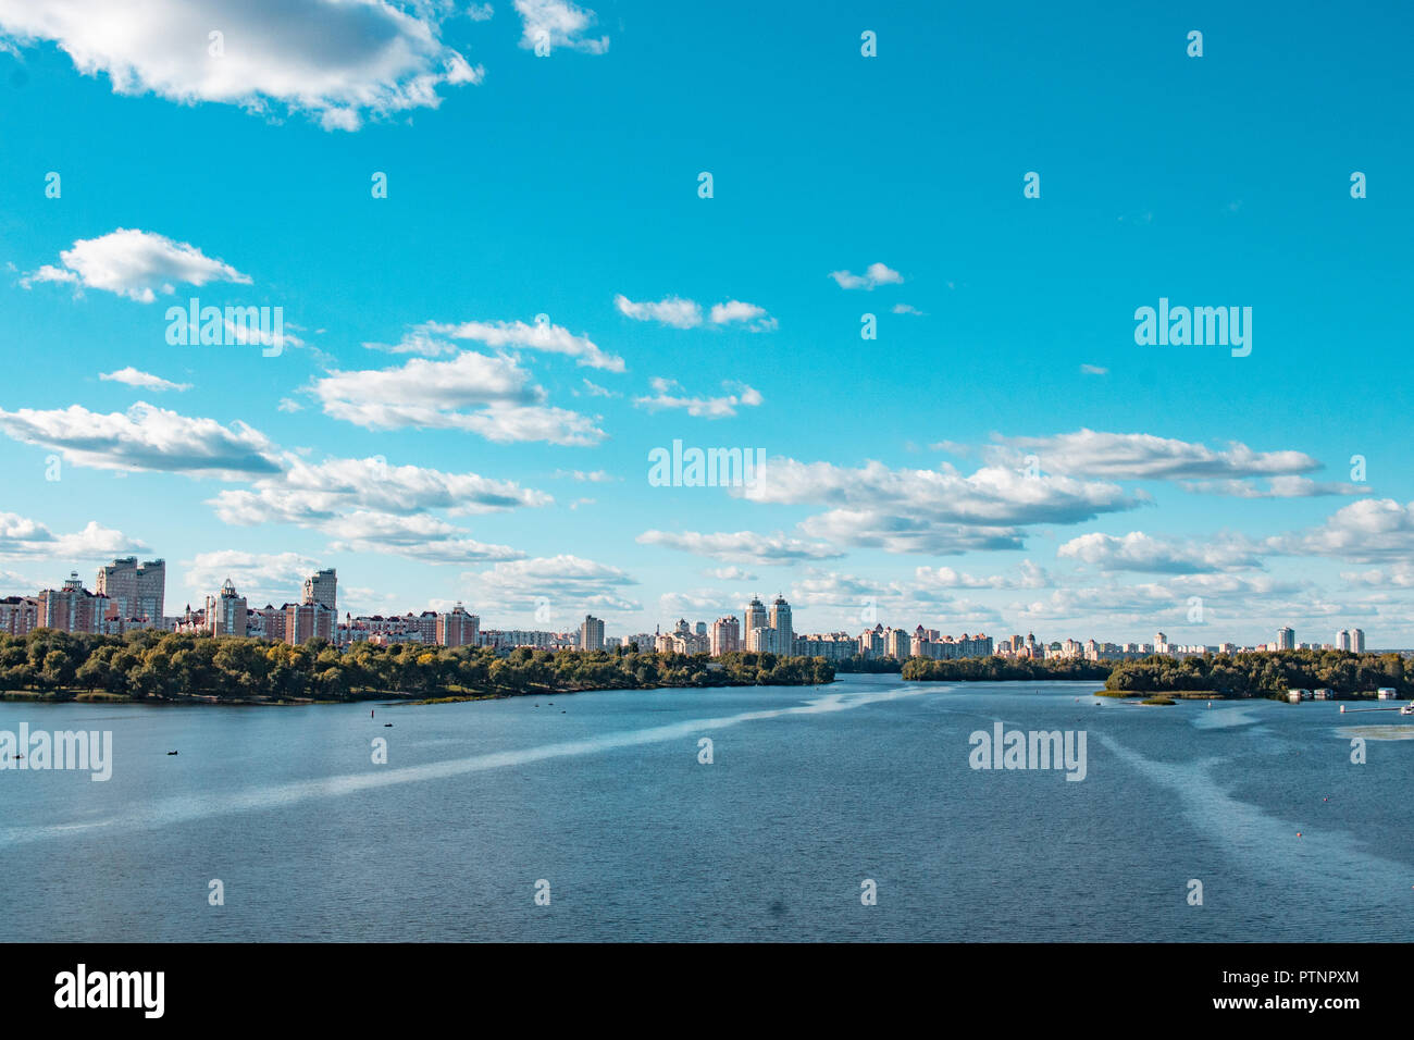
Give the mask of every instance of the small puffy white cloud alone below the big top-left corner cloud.
<svg viewBox="0 0 1414 1040">
<path fill-rule="evenodd" d="M 23 277 L 20 284 L 30 289 L 35 282 L 102 289 L 139 303 L 153 303 L 158 293 L 171 296 L 177 291 L 177 283 L 204 286 L 208 282 L 232 282 L 247 286 L 250 276 L 206 256 L 189 242 L 119 228 L 99 238 L 79 239 L 59 253 L 59 266 L 45 265 Z"/>
</svg>

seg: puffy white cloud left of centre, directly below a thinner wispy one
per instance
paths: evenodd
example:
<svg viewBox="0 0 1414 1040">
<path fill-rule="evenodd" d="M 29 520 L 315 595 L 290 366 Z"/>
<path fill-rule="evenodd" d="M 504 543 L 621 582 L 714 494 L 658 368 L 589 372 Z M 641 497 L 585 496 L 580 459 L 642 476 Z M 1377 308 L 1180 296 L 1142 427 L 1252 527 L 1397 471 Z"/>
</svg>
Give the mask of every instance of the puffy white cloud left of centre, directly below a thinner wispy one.
<svg viewBox="0 0 1414 1040">
<path fill-rule="evenodd" d="M 457 429 L 496 443 L 594 444 L 594 420 L 550 408 L 515 359 L 468 351 L 450 361 L 413 358 L 397 368 L 332 371 L 310 392 L 325 415 L 373 430 Z"/>
</svg>

